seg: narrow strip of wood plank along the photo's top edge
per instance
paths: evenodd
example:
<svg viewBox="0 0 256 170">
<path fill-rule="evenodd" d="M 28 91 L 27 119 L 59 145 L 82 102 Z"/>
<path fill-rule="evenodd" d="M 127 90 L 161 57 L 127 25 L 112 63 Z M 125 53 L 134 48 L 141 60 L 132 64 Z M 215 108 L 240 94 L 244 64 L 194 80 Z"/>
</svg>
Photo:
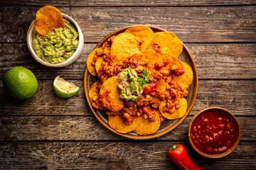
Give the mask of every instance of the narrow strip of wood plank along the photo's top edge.
<svg viewBox="0 0 256 170">
<path fill-rule="evenodd" d="M 21 1 L 3 1 L 3 6 L 223 6 L 223 5 L 252 5 L 255 4 L 253 0 L 245 1 L 211 1 L 211 0 L 172 0 L 172 1 L 154 1 L 154 0 L 141 0 L 141 1 L 34 1 L 34 0 L 21 0 Z"/>
</svg>

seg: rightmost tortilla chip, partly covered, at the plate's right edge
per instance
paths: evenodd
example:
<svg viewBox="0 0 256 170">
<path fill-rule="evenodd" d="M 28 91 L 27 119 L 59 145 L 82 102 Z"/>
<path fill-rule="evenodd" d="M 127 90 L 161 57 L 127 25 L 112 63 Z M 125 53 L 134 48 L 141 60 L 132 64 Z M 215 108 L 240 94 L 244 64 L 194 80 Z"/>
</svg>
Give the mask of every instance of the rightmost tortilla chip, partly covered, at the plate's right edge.
<svg viewBox="0 0 256 170">
<path fill-rule="evenodd" d="M 181 75 L 181 79 L 178 81 L 178 83 L 181 84 L 181 86 L 184 86 L 185 89 L 188 89 L 188 87 L 191 85 L 193 81 L 193 70 L 185 62 L 182 62 L 182 64 L 185 73 Z"/>
</svg>

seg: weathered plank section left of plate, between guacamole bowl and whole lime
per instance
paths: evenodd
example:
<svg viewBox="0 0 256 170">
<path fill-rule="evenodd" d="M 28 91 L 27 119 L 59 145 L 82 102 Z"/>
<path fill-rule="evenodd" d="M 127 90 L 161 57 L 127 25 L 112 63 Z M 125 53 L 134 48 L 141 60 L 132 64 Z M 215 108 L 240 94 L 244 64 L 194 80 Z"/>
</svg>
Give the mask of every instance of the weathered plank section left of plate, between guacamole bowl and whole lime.
<svg viewBox="0 0 256 170">
<path fill-rule="evenodd" d="M 38 79 L 54 79 L 58 75 L 65 79 L 83 79 L 85 76 L 87 56 L 96 44 L 85 44 L 82 55 L 68 67 L 46 67 L 36 62 L 25 44 L 0 44 L 0 78 L 12 67 L 23 66 L 30 69 Z"/>
</svg>

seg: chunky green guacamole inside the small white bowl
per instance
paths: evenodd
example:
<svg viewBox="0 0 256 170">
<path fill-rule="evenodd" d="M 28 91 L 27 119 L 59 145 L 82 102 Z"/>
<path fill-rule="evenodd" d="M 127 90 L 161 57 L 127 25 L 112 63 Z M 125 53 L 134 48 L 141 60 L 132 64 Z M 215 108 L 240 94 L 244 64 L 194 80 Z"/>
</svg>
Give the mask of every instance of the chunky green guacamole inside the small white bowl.
<svg viewBox="0 0 256 170">
<path fill-rule="evenodd" d="M 32 46 L 36 55 L 43 61 L 52 64 L 64 62 L 71 57 L 78 47 L 78 30 L 68 20 L 64 19 L 65 28 L 55 28 L 46 36 L 34 30 Z"/>
</svg>

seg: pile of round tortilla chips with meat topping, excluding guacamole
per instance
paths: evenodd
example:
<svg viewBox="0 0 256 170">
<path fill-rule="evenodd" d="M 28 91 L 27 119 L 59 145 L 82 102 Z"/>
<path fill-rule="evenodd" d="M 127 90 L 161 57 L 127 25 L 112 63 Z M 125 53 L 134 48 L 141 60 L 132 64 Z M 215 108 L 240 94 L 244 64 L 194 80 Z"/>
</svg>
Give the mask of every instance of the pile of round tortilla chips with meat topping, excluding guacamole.
<svg viewBox="0 0 256 170">
<path fill-rule="evenodd" d="M 182 50 L 176 35 L 154 33 L 148 26 L 134 26 L 112 36 L 87 57 L 88 71 L 99 78 L 89 91 L 92 106 L 106 110 L 110 127 L 120 133 L 150 135 L 165 119 L 182 118 L 187 111 L 186 89 L 193 81 L 191 67 L 178 60 Z M 141 77 L 146 69 L 149 83 L 144 86 L 150 89 L 156 84 L 156 92 L 144 92 L 135 102 L 120 98 L 118 74 L 128 67 Z"/>
</svg>

